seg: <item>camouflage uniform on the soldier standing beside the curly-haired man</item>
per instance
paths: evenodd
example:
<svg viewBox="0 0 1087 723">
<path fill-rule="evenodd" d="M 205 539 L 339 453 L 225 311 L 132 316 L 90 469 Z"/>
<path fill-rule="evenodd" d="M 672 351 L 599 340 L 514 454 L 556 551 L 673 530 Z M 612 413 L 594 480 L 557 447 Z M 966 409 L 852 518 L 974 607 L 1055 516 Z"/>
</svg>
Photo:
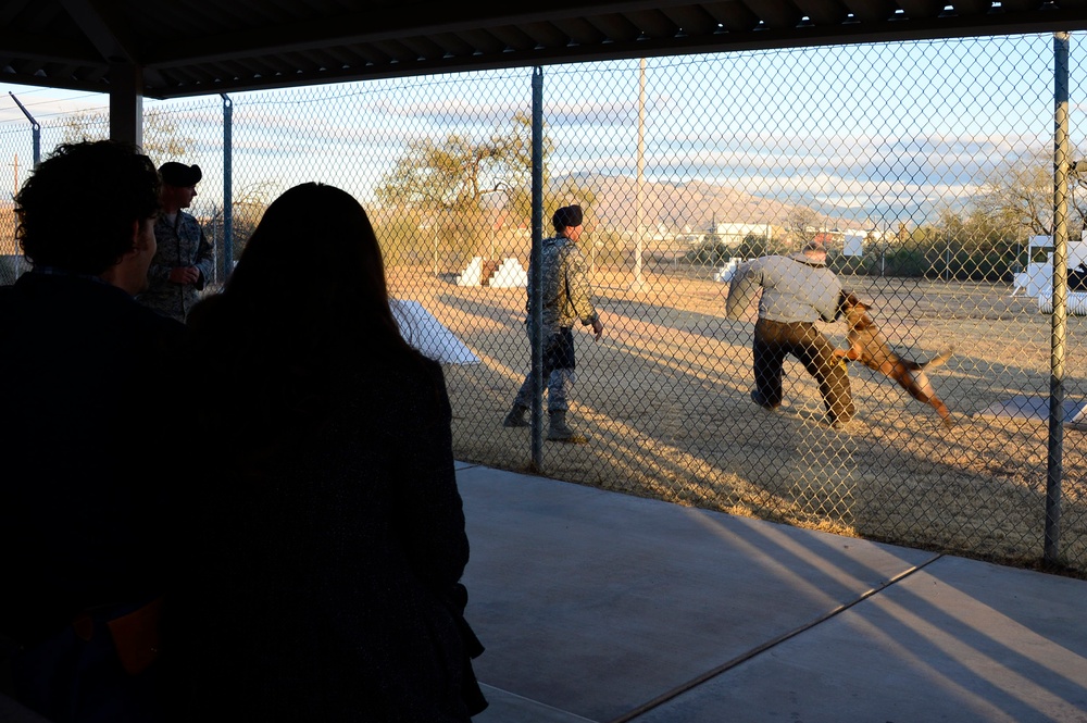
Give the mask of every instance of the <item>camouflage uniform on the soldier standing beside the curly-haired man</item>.
<svg viewBox="0 0 1087 723">
<path fill-rule="evenodd" d="M 177 212 L 173 223 L 161 214 L 154 222 L 154 239 L 159 249 L 147 274 L 150 286 L 140 296 L 140 303 L 184 322 L 200 299 L 200 290 L 214 273 L 212 246 L 204 238 L 196 217 L 184 211 Z M 170 281 L 170 271 L 174 266 L 195 266 L 200 272 L 200 278 L 196 284 L 174 284 Z"/>
</svg>

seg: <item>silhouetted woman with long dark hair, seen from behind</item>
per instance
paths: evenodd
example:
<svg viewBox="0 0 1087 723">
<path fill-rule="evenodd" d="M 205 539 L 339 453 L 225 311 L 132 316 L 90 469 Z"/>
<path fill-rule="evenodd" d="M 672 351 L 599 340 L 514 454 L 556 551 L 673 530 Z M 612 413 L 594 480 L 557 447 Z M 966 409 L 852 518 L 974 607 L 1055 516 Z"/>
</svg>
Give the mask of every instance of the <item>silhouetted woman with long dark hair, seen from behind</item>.
<svg viewBox="0 0 1087 723">
<path fill-rule="evenodd" d="M 178 712 L 467 721 L 486 702 L 449 399 L 400 336 L 365 211 L 286 191 L 189 324 L 217 452 L 168 602 Z"/>
</svg>

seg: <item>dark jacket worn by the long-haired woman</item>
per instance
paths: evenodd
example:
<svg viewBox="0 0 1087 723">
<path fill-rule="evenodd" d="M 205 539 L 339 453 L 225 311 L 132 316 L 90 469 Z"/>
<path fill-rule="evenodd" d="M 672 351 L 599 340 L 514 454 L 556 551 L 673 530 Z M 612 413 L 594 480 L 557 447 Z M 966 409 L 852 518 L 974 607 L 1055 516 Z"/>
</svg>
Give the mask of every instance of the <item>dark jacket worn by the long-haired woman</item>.
<svg viewBox="0 0 1087 723">
<path fill-rule="evenodd" d="M 468 720 L 468 544 L 441 369 L 333 376 L 317 423 L 223 439 L 192 487 L 166 628 L 182 720 Z"/>
</svg>

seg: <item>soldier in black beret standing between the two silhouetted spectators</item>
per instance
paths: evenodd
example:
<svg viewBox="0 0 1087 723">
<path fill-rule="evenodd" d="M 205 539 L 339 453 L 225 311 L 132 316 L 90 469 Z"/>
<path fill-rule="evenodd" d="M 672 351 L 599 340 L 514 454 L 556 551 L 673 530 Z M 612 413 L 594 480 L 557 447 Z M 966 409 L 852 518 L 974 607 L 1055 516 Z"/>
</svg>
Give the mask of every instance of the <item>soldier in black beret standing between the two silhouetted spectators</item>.
<svg viewBox="0 0 1087 723">
<path fill-rule="evenodd" d="M 148 273 L 150 286 L 140 302 L 164 316 L 184 322 L 214 273 L 215 257 L 200 223 L 187 209 L 197 197 L 202 174 L 198 165 L 170 161 L 159 167 L 162 212 L 154 224 L 159 250 Z"/>
</svg>

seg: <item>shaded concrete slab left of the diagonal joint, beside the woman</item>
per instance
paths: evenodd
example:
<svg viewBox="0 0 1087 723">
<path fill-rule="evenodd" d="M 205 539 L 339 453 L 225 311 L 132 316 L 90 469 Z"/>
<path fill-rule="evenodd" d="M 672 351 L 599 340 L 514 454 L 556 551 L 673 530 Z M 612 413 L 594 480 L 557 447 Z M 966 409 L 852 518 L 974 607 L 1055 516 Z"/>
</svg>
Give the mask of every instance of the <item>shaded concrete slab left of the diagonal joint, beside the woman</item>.
<svg viewBox="0 0 1087 723">
<path fill-rule="evenodd" d="M 591 721 L 628 716 L 937 557 L 486 468 L 458 481 L 480 682 Z"/>
</svg>

